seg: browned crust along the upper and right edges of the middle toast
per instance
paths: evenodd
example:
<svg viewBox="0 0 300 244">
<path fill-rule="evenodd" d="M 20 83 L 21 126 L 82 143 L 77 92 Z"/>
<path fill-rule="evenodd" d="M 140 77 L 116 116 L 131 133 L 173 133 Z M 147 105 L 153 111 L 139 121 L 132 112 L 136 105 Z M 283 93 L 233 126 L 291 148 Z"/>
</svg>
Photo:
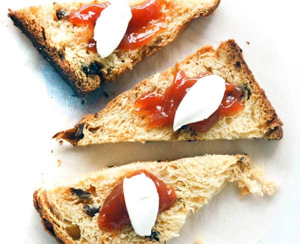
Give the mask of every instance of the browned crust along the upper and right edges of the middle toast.
<svg viewBox="0 0 300 244">
<path fill-rule="evenodd" d="M 263 127 L 267 128 L 267 131 L 262 135 L 264 139 L 268 140 L 280 140 L 283 137 L 283 130 L 282 130 L 282 122 L 280 121 L 279 117 L 277 116 L 274 108 L 271 106 L 270 102 L 268 101 L 265 92 L 263 89 L 260 88 L 258 83 L 256 82 L 255 78 L 252 75 L 248 65 L 246 64 L 242 50 L 236 44 L 236 42 L 232 39 L 221 42 L 221 44 L 217 47 L 216 50 L 212 46 L 203 46 L 202 48 L 198 49 L 196 53 L 190 55 L 189 57 L 185 58 L 181 62 L 177 63 L 175 67 L 167 69 L 166 71 L 161 73 L 162 77 L 167 76 L 167 74 L 174 72 L 177 69 L 177 66 L 180 66 L 182 63 L 193 62 L 193 60 L 199 60 L 201 55 L 212 56 L 215 59 L 222 59 L 225 62 L 225 65 L 228 69 L 237 69 L 239 76 L 242 77 L 244 80 L 249 82 L 251 86 L 251 93 L 252 97 L 254 96 L 255 102 L 259 105 L 259 108 L 262 111 L 263 117 L 261 117 L 261 121 L 263 121 Z M 123 92 L 116 98 L 114 98 L 111 102 L 107 104 L 107 106 L 100 112 L 96 113 L 95 115 L 89 114 L 84 117 L 74 126 L 74 128 L 61 131 L 56 133 L 53 138 L 57 140 L 63 139 L 67 140 L 71 144 L 80 146 L 80 140 L 84 138 L 83 130 L 80 131 L 78 134 L 78 128 L 85 128 L 86 124 L 91 124 L 94 121 L 99 121 L 105 118 L 105 115 L 112 111 L 115 104 L 118 101 L 121 101 L 124 97 L 136 97 L 137 90 L 143 90 L 144 87 L 147 87 L 150 83 L 149 81 L 153 79 L 153 75 L 141 82 L 139 82 L 132 90 Z M 189 136 L 189 131 L 182 130 L 181 133 L 183 136 L 186 134 L 185 140 L 198 140 L 197 136 Z M 77 134 L 77 136 L 75 136 Z M 175 135 L 175 140 L 178 139 L 178 135 Z M 118 138 L 118 141 L 130 141 L 131 138 Z M 90 143 L 88 143 L 90 144 Z M 86 144 L 84 144 L 86 145 Z"/>
</svg>

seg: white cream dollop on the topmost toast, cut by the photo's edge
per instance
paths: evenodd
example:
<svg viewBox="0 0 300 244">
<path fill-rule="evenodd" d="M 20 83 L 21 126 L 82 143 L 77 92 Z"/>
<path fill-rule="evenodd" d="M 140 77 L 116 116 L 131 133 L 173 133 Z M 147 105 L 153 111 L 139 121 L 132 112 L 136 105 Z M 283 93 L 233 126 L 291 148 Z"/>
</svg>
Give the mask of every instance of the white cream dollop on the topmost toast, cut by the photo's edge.
<svg viewBox="0 0 300 244">
<path fill-rule="evenodd" d="M 132 18 L 127 0 L 109 0 L 96 20 L 94 40 L 97 42 L 97 52 L 104 58 L 109 56 L 120 44 Z"/>
</svg>

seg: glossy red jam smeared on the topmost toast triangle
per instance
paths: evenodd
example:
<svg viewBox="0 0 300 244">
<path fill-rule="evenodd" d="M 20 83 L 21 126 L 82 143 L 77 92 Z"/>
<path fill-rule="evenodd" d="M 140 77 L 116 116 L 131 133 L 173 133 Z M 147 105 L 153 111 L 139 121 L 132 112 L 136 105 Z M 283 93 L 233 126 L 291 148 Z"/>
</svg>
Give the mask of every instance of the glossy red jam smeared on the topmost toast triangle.
<svg viewBox="0 0 300 244">
<path fill-rule="evenodd" d="M 72 11 L 68 20 L 74 25 L 87 25 L 93 29 L 101 11 L 108 5 L 108 2 L 83 5 Z M 160 6 L 160 0 L 145 0 L 140 4 L 131 6 L 132 18 L 118 48 L 126 50 L 143 46 L 157 33 L 165 29 L 166 16 L 160 12 Z M 92 37 L 89 36 L 88 38 L 87 50 L 96 52 L 96 42 Z M 92 47 L 90 48 L 90 46 Z"/>
</svg>

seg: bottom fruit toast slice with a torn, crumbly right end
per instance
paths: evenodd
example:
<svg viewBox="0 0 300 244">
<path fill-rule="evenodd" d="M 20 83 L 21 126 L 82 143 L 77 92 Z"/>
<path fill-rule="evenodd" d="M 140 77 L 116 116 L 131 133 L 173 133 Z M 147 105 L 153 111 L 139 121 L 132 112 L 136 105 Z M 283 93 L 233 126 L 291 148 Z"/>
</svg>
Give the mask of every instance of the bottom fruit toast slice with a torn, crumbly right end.
<svg viewBox="0 0 300 244">
<path fill-rule="evenodd" d="M 33 202 L 45 231 L 63 244 L 163 244 L 179 236 L 186 216 L 199 210 L 228 182 L 235 183 L 240 189 L 240 196 L 274 194 L 276 186 L 263 179 L 263 169 L 250 168 L 249 165 L 250 158 L 247 155 L 207 155 L 171 162 L 132 163 L 104 169 L 68 186 L 53 190 L 41 188 L 35 191 Z M 157 217 L 153 230 L 159 235 L 155 239 L 139 237 L 131 226 L 119 233 L 103 232 L 97 224 L 99 214 L 88 216 L 84 206 L 102 206 L 114 186 L 127 173 L 141 169 L 152 173 L 167 186 L 172 186 L 177 195 L 172 207 Z M 88 199 L 72 195 L 71 188 L 87 192 Z"/>
</svg>

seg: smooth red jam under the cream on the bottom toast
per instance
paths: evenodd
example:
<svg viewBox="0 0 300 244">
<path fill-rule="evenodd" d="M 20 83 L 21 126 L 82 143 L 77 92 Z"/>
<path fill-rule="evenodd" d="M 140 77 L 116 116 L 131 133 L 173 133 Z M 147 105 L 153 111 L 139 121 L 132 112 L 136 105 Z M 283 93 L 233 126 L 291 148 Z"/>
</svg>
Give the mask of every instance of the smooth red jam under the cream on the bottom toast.
<svg viewBox="0 0 300 244">
<path fill-rule="evenodd" d="M 131 178 L 141 173 L 150 178 L 156 186 L 159 196 L 158 214 L 169 209 L 177 198 L 172 187 L 167 187 L 163 181 L 145 170 L 135 171 L 125 177 Z M 127 225 L 130 225 L 130 220 L 126 210 L 122 180 L 105 199 L 99 213 L 98 226 L 103 231 L 118 231 Z"/>
</svg>

